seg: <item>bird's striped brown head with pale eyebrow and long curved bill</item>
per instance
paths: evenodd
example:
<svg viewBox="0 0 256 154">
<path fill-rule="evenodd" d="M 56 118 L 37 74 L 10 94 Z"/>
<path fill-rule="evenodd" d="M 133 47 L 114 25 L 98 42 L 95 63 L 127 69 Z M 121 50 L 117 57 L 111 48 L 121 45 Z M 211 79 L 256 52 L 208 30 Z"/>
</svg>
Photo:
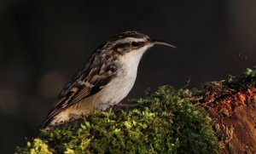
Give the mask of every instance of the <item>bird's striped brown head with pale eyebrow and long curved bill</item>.
<svg viewBox="0 0 256 154">
<path fill-rule="evenodd" d="M 144 35 L 137 31 L 125 31 L 119 35 L 112 37 L 107 44 L 114 52 L 117 52 L 119 54 L 127 54 L 137 51 L 144 52 L 148 48 L 153 47 L 156 44 L 176 48 L 170 43 L 152 39 L 147 35 Z"/>
</svg>

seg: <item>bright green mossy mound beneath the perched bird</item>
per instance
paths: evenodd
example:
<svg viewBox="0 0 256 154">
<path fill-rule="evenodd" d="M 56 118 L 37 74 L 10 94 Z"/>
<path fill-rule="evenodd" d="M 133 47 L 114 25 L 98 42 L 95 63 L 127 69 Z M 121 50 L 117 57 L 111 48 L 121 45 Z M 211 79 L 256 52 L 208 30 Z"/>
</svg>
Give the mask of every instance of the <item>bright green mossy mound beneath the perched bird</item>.
<svg viewBox="0 0 256 154">
<path fill-rule="evenodd" d="M 40 138 L 17 153 L 216 153 L 212 120 L 189 90 L 162 86 L 131 111 L 96 111 Z M 31 145 L 33 146 L 31 147 Z"/>
</svg>

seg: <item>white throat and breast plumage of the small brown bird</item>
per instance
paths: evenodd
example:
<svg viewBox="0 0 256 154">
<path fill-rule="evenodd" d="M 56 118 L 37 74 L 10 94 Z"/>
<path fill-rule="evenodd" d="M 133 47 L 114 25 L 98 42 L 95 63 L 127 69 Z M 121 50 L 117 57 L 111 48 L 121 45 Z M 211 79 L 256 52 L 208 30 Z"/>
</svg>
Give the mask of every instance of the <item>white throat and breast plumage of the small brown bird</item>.
<svg viewBox="0 0 256 154">
<path fill-rule="evenodd" d="M 102 89 L 101 102 L 104 102 L 106 106 L 101 106 L 100 110 L 105 110 L 109 105 L 112 106 L 119 103 L 129 94 L 137 77 L 138 64 L 146 49 L 148 49 L 147 46 L 120 57 L 119 62 L 122 67 L 119 68 L 117 77 Z"/>
</svg>

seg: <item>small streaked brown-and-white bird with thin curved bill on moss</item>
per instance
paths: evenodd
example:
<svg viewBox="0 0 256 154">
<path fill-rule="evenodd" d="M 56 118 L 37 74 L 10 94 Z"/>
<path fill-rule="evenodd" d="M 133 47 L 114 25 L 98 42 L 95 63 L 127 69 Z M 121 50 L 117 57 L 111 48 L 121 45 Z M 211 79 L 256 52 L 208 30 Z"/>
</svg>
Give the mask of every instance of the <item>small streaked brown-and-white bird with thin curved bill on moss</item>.
<svg viewBox="0 0 256 154">
<path fill-rule="evenodd" d="M 102 43 L 61 90 L 43 128 L 53 128 L 119 104 L 136 81 L 143 54 L 157 44 L 175 48 L 138 31 L 125 31 Z"/>
</svg>

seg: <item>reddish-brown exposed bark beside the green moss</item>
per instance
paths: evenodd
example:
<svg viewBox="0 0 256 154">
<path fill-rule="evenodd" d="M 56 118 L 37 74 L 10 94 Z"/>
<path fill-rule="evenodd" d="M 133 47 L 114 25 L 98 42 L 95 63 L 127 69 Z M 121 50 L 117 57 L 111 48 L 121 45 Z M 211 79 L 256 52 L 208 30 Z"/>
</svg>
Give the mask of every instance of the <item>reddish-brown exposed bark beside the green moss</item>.
<svg viewBox="0 0 256 154">
<path fill-rule="evenodd" d="M 211 88 L 204 100 L 201 106 L 222 134 L 220 153 L 256 153 L 256 88 Z"/>
</svg>

